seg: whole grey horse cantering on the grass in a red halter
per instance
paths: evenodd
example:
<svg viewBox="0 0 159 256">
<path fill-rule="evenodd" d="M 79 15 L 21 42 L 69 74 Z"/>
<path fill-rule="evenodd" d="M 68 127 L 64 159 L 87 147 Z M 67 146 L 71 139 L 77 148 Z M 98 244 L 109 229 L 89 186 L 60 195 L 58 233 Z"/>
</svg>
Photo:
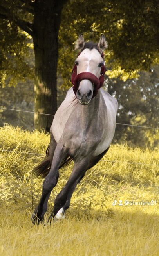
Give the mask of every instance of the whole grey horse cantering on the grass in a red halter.
<svg viewBox="0 0 159 256">
<path fill-rule="evenodd" d="M 54 217 L 64 218 L 76 185 L 110 147 L 116 127 L 118 103 L 109 93 L 99 89 L 98 80 L 101 78 L 106 48 L 107 41 L 103 34 L 98 44 L 85 43 L 83 35 L 78 37 L 75 76 L 79 79 L 75 77 L 76 88 L 73 86 L 69 89 L 54 116 L 47 157 L 36 167 L 36 172 L 45 180 L 40 202 L 31 218 L 33 224 L 43 220 L 49 196 L 58 182 L 58 170 L 70 159 L 74 161 L 72 173 L 57 195 L 48 221 Z"/>
</svg>

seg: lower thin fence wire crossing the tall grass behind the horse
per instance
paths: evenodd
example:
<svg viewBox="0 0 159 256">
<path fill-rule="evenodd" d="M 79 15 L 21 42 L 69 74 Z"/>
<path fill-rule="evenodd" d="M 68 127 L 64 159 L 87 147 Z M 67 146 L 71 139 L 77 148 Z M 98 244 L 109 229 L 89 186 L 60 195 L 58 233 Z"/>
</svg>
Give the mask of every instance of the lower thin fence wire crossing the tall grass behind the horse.
<svg viewBox="0 0 159 256">
<path fill-rule="evenodd" d="M 23 151 L 15 151 L 15 150 L 4 150 L 1 149 L 0 151 L 3 152 L 10 152 L 10 153 L 21 153 L 21 154 L 31 154 L 31 155 L 38 155 L 38 156 L 45 156 L 44 154 L 38 154 L 38 153 L 31 153 L 31 152 L 23 152 Z M 106 161 L 106 162 L 111 162 L 111 163 L 126 163 L 126 164 L 136 164 L 136 165 L 150 165 L 150 166 L 156 166 L 159 167 L 159 165 L 156 165 L 155 163 L 137 163 L 137 162 L 127 162 L 127 161 L 118 161 L 118 160 L 104 160 L 102 159 L 101 161 Z"/>
</svg>

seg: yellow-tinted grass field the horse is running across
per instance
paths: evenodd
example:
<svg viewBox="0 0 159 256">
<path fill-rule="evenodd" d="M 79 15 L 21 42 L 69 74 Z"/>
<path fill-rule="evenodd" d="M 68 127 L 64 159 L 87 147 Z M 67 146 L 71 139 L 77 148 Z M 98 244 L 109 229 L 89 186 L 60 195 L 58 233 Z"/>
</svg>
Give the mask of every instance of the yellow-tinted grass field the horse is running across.
<svg viewBox="0 0 159 256">
<path fill-rule="evenodd" d="M 49 136 L 39 132 L 0 128 L 0 255 L 159 255 L 159 150 L 112 145 L 77 186 L 65 219 L 34 226 L 30 217 L 42 178 L 32 170 L 43 156 L 28 153 L 45 154 L 48 143 Z M 60 170 L 47 216 L 71 169 Z M 130 205 L 133 200 L 154 204 Z"/>
</svg>

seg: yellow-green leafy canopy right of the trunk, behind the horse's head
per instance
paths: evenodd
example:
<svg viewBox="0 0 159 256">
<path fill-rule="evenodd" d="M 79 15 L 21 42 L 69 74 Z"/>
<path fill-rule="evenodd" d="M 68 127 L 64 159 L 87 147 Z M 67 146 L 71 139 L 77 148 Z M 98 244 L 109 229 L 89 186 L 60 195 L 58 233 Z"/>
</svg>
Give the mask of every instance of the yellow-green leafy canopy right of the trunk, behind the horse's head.
<svg viewBox="0 0 159 256">
<path fill-rule="evenodd" d="M 76 55 L 72 52 L 73 43 L 81 33 L 92 41 L 99 41 L 100 34 L 105 34 L 108 41 L 105 59 L 110 78 L 119 76 L 126 81 L 137 77 L 139 70 L 150 69 L 159 57 L 158 15 L 157 0 L 68 1 L 63 8 L 59 33 L 59 72 L 64 85 L 70 85 L 68 71 Z"/>
</svg>

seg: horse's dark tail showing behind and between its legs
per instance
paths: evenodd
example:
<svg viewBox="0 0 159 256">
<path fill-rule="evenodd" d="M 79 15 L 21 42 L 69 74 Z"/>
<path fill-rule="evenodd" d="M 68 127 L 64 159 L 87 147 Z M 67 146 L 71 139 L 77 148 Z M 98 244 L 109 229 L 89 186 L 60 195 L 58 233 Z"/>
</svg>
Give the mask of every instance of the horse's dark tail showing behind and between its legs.
<svg viewBox="0 0 159 256">
<path fill-rule="evenodd" d="M 45 178 L 47 176 L 47 174 L 49 173 L 50 169 L 51 169 L 51 158 L 50 158 L 50 155 L 49 155 L 49 149 L 50 149 L 50 144 L 47 147 L 45 159 L 38 166 L 36 166 L 34 168 L 34 171 L 35 171 L 36 175 L 37 176 L 42 176 L 42 178 Z M 70 162 L 72 162 L 71 157 L 65 158 L 62 161 L 59 169 L 62 168 L 62 167 L 67 166 Z"/>
</svg>

